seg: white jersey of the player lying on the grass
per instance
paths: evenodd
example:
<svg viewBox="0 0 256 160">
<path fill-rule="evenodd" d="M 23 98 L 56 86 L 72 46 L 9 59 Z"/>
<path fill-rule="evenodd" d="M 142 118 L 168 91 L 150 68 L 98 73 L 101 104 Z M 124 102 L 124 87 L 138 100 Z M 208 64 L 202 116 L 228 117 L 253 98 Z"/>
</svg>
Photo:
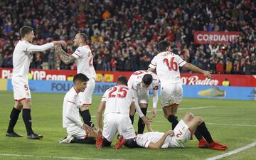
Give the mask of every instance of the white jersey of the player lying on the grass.
<svg viewBox="0 0 256 160">
<path fill-rule="evenodd" d="M 147 132 L 144 134 L 138 134 L 136 138 L 136 142 L 138 146 L 148 148 L 150 142 L 156 143 L 163 136 L 164 136 L 163 132 Z M 170 141 L 171 141 L 171 137 L 169 136 L 166 137 L 166 140 L 164 141 L 164 144 L 161 146 L 161 148 L 169 148 Z"/>
</svg>

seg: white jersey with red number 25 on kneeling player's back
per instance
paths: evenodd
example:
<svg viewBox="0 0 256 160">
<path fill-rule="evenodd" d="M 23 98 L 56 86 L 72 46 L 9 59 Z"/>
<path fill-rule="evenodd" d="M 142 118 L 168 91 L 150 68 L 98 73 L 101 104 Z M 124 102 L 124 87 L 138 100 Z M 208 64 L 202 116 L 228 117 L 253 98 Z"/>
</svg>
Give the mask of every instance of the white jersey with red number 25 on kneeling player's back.
<svg viewBox="0 0 256 160">
<path fill-rule="evenodd" d="M 129 116 L 129 110 L 132 102 L 134 102 L 134 96 L 132 90 L 126 85 L 116 85 L 106 90 L 102 101 L 106 102 L 104 114 L 122 113 Z"/>
</svg>

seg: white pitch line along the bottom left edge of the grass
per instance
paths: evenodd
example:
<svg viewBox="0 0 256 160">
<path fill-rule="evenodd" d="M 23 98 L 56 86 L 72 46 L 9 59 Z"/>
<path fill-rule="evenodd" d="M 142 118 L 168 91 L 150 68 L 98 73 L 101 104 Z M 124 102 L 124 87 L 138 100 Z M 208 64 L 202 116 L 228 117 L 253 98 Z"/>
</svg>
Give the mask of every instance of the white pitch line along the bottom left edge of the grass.
<svg viewBox="0 0 256 160">
<path fill-rule="evenodd" d="M 75 157 L 75 156 L 39 156 L 39 155 L 26 155 L 26 154 L 0 154 L 0 156 L 23 156 L 23 157 L 36 157 L 36 158 L 50 158 L 50 159 L 93 159 L 85 157 Z M 96 159 L 96 160 L 124 160 L 124 159 Z"/>
</svg>

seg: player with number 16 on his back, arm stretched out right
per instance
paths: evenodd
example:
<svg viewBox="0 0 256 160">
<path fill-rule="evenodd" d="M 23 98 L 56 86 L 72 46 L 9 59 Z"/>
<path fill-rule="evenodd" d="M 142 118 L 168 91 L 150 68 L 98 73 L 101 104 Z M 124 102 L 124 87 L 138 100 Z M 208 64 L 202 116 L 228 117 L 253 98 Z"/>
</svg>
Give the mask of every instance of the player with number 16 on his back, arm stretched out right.
<svg viewBox="0 0 256 160">
<path fill-rule="evenodd" d="M 181 75 L 178 67 L 187 68 L 196 73 L 202 73 L 209 79 L 213 78 L 213 75 L 206 70 L 201 70 L 191 63 L 186 63 L 180 56 L 171 53 L 171 43 L 169 41 L 160 41 L 158 49 L 160 53 L 151 60 L 148 70 L 151 72 L 156 70 L 156 74 L 161 81 L 161 99 L 164 117 L 171 122 L 172 129 L 174 129 L 178 124 L 176 112 L 178 105 L 181 103 L 183 92 Z M 203 146 L 204 144 L 201 144 L 201 142 L 203 142 L 203 137 L 201 137 L 198 132 L 195 132 L 195 136 L 199 141 L 198 146 Z M 204 141 L 203 143 L 206 142 Z"/>
</svg>

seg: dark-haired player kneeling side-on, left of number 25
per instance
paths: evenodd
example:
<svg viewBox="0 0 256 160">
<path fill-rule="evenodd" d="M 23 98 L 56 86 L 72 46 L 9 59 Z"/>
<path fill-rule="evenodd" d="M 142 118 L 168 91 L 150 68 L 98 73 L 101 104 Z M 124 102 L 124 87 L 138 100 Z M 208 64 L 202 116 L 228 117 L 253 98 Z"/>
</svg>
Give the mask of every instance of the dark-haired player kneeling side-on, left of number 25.
<svg viewBox="0 0 256 160">
<path fill-rule="evenodd" d="M 84 92 L 89 78 L 82 73 L 75 75 L 73 87 L 66 93 L 63 101 L 63 128 L 68 132 L 68 137 L 60 143 L 95 144 L 97 132 L 92 127 L 84 124 L 80 119 L 78 94 Z"/>
</svg>

